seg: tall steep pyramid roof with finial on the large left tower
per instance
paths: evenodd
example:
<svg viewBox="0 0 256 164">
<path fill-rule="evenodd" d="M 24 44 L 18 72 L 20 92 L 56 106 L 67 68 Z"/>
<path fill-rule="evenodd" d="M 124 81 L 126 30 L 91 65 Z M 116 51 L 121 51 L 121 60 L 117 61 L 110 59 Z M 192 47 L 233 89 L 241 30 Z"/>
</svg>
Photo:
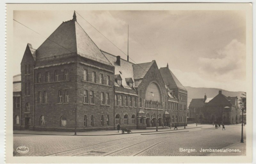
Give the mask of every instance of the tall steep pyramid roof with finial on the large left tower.
<svg viewBox="0 0 256 164">
<path fill-rule="evenodd" d="M 63 22 L 36 51 L 37 58 L 50 58 L 63 54 L 78 54 L 111 65 L 84 29 L 76 22 L 76 14 L 72 20 Z"/>
</svg>

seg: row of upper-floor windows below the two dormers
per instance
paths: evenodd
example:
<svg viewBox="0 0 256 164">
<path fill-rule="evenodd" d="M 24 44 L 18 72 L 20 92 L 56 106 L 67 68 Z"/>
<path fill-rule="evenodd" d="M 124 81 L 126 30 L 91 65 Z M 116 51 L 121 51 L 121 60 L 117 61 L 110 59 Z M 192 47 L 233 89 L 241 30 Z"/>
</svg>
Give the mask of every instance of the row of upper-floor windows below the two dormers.
<svg viewBox="0 0 256 164">
<path fill-rule="evenodd" d="M 128 99 L 129 97 L 129 99 Z M 129 100 L 129 103 L 128 103 L 128 100 Z M 124 96 L 124 102 L 123 102 L 123 96 L 122 95 L 115 95 L 115 105 L 120 105 L 120 106 L 129 106 L 130 107 L 137 107 L 137 97 L 134 97 L 133 98 L 133 105 L 132 105 L 132 96 Z M 140 107 L 141 107 L 141 98 L 140 98 Z"/>
</svg>

